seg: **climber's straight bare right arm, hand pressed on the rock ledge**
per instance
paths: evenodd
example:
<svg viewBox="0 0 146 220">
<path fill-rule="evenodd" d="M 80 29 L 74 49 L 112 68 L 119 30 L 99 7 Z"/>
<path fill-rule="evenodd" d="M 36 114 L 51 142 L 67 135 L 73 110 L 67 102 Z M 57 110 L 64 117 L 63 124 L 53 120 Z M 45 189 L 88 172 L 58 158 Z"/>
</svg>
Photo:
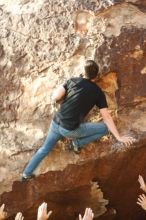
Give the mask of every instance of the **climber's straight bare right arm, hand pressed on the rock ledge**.
<svg viewBox="0 0 146 220">
<path fill-rule="evenodd" d="M 104 120 L 104 123 L 107 125 L 108 129 L 110 130 L 110 132 L 114 135 L 114 137 L 124 143 L 126 146 L 132 144 L 135 139 L 129 136 L 121 136 L 117 130 L 117 127 L 108 111 L 107 108 L 102 108 L 100 109 L 100 113 L 102 115 L 102 118 Z"/>
</svg>

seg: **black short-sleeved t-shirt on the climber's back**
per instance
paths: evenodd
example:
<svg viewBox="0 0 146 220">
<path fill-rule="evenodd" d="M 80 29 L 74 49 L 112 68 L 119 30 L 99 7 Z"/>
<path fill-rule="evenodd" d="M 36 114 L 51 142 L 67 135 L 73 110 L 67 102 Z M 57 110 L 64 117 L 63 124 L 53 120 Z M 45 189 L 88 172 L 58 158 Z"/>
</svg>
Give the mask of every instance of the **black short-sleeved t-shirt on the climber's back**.
<svg viewBox="0 0 146 220">
<path fill-rule="evenodd" d="M 71 78 L 63 86 L 66 94 L 53 120 L 67 130 L 76 129 L 94 105 L 108 107 L 102 90 L 88 79 Z"/>
</svg>

